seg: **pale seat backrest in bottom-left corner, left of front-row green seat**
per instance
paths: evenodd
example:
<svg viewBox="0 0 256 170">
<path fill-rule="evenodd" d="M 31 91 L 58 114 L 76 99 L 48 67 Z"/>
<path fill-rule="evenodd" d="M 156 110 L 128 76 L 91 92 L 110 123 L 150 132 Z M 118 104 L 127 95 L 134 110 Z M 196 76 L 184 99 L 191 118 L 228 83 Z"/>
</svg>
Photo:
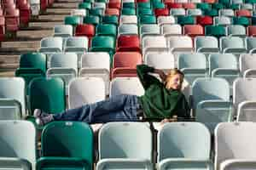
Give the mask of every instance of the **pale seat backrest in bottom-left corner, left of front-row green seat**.
<svg viewBox="0 0 256 170">
<path fill-rule="evenodd" d="M 25 159 L 36 165 L 36 129 L 32 122 L 0 121 L 0 157 Z"/>
</svg>

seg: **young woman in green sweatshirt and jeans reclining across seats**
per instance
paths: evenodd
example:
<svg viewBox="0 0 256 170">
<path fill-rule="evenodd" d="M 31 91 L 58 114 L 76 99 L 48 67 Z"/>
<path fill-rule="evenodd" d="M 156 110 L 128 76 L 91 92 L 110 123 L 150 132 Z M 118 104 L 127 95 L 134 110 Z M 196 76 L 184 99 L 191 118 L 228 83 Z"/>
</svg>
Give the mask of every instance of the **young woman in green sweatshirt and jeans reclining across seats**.
<svg viewBox="0 0 256 170">
<path fill-rule="evenodd" d="M 162 82 L 148 73 L 158 74 Z M 181 92 L 183 72 L 172 69 L 166 75 L 148 65 L 137 65 L 137 76 L 145 89 L 143 96 L 121 94 L 58 114 L 48 114 L 36 109 L 36 122 L 39 125 L 52 121 L 132 122 L 139 121 L 139 117 L 171 122 L 172 116 L 190 117 L 188 102 Z"/>
</svg>

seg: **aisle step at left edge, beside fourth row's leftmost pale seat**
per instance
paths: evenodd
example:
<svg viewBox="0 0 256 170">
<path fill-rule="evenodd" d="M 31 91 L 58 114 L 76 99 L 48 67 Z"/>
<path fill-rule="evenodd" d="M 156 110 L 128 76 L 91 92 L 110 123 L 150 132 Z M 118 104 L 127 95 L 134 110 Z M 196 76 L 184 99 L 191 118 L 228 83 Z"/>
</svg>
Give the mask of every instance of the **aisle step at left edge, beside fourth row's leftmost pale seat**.
<svg viewBox="0 0 256 170">
<path fill-rule="evenodd" d="M 2 48 L 39 48 L 40 41 L 2 42 Z"/>
</svg>

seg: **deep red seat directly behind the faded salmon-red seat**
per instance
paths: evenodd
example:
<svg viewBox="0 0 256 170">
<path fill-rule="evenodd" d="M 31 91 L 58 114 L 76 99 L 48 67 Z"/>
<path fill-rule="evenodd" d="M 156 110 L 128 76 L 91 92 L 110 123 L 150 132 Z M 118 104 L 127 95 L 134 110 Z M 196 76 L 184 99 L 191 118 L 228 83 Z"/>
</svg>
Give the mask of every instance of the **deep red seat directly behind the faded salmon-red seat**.
<svg viewBox="0 0 256 170">
<path fill-rule="evenodd" d="M 136 35 L 121 35 L 118 37 L 116 51 L 141 52 L 140 39 Z"/>
</svg>

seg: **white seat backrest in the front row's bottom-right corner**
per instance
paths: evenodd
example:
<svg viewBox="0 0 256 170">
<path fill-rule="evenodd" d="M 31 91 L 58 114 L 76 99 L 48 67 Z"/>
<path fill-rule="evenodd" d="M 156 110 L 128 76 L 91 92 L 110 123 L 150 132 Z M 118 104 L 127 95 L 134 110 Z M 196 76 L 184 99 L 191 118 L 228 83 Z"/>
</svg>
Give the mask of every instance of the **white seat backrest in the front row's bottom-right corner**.
<svg viewBox="0 0 256 170">
<path fill-rule="evenodd" d="M 215 129 L 215 169 L 230 159 L 255 160 L 254 122 L 222 122 Z"/>
</svg>

